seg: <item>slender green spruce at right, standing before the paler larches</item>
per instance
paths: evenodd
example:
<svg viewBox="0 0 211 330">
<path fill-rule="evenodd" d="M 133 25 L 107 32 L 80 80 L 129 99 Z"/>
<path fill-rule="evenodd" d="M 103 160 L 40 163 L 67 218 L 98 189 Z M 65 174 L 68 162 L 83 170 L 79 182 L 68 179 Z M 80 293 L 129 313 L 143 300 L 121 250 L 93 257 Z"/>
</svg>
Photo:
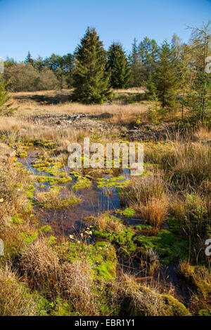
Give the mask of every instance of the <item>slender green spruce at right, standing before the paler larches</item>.
<svg viewBox="0 0 211 330">
<path fill-rule="evenodd" d="M 158 65 L 154 76 L 155 87 L 162 108 L 172 110 L 175 105 L 178 77 L 175 70 L 174 52 L 167 41 L 162 44 L 158 56 Z"/>
</svg>

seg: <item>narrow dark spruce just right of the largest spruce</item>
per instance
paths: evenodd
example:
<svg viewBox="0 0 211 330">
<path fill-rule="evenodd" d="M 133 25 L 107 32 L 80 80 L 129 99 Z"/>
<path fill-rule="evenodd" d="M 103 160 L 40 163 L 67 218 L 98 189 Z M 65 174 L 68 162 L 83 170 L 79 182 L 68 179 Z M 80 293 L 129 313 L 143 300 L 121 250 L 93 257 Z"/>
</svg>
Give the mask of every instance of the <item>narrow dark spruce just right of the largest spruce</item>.
<svg viewBox="0 0 211 330">
<path fill-rule="evenodd" d="M 108 71 L 110 72 L 110 86 L 113 88 L 127 88 L 129 85 L 129 63 L 118 42 L 108 49 Z"/>
</svg>

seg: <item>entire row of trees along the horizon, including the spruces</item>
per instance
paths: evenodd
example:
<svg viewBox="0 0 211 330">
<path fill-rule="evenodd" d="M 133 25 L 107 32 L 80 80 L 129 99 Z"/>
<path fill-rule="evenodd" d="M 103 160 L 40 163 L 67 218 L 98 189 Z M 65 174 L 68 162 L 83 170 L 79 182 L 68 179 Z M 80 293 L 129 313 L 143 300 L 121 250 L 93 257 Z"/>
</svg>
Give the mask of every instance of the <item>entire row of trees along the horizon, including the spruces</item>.
<svg viewBox="0 0 211 330">
<path fill-rule="evenodd" d="M 7 59 L 4 79 L 11 91 L 72 88 L 72 100 L 103 103 L 113 97 L 111 88 L 146 86 L 155 110 L 188 108 L 201 121 L 210 110 L 210 74 L 205 67 L 210 53 L 210 22 L 190 27 L 188 44 L 176 34 L 169 44 L 159 46 L 154 39 L 134 39 L 127 53 L 119 42 L 108 51 L 94 28 L 87 29 L 75 53 L 33 59 L 25 62 Z"/>
</svg>

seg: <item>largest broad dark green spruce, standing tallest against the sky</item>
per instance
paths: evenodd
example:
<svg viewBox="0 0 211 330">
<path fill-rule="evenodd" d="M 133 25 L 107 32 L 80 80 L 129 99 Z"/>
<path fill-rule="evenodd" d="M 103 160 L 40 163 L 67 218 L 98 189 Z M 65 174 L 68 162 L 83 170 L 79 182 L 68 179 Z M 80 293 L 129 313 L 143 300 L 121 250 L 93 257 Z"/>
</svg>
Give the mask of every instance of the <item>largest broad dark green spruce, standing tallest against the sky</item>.
<svg viewBox="0 0 211 330">
<path fill-rule="evenodd" d="M 96 30 L 88 27 L 75 51 L 74 100 L 91 104 L 103 103 L 111 97 L 106 62 L 103 42 Z"/>
</svg>

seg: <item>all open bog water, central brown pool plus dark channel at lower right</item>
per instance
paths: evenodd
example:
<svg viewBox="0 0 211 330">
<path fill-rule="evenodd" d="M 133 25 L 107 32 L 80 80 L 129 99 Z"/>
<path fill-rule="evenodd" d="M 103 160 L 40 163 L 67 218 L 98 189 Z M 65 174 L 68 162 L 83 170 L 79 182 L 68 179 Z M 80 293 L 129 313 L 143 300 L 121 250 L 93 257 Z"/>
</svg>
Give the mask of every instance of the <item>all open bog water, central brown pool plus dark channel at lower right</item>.
<svg viewBox="0 0 211 330">
<path fill-rule="evenodd" d="M 50 174 L 42 171 L 37 171 L 32 167 L 32 164 L 38 157 L 38 152 L 28 152 L 26 158 L 18 159 L 23 165 L 27 166 L 29 171 L 32 171 L 36 176 L 50 176 Z M 68 173 L 71 169 L 65 167 L 64 169 Z M 120 175 L 124 176 L 124 179 L 129 179 L 129 170 L 124 170 Z M 104 176 L 108 178 L 108 176 Z M 72 180 L 65 183 L 65 187 L 71 190 L 72 185 L 75 185 L 77 179 L 72 177 Z M 45 185 L 41 188 L 40 185 Z M 44 192 L 49 190 L 49 183 L 36 183 L 34 194 L 37 192 Z M 58 239 L 68 239 L 69 235 L 79 235 L 82 228 L 87 227 L 89 221 L 84 221 L 85 217 L 100 216 L 102 213 L 109 212 L 117 216 L 114 211 L 120 209 L 120 197 L 117 194 L 117 188 L 115 187 L 97 187 L 96 182 L 93 180 L 89 188 L 82 190 L 75 190 L 75 194 L 82 200 L 79 204 L 70 205 L 64 209 L 44 209 L 38 206 L 34 206 L 33 213 L 41 225 L 50 225 L 53 229 L 53 235 Z M 128 225 L 139 225 L 144 221 L 136 216 L 136 214 L 129 219 L 124 219 L 124 223 Z M 167 224 L 164 225 L 166 227 Z M 103 240 L 103 239 L 101 239 Z M 98 238 L 91 238 L 91 242 L 98 241 Z M 163 267 L 158 270 L 153 276 L 150 276 L 143 272 L 140 272 L 140 264 L 135 260 L 124 259 L 120 257 L 118 270 L 119 272 L 129 272 L 136 277 L 136 281 L 140 284 L 146 284 L 154 286 L 163 293 L 172 292 L 172 294 L 179 299 L 185 305 L 188 305 L 191 294 L 188 291 L 186 285 L 182 284 L 177 278 L 177 264 L 171 263 L 168 267 Z"/>
</svg>

